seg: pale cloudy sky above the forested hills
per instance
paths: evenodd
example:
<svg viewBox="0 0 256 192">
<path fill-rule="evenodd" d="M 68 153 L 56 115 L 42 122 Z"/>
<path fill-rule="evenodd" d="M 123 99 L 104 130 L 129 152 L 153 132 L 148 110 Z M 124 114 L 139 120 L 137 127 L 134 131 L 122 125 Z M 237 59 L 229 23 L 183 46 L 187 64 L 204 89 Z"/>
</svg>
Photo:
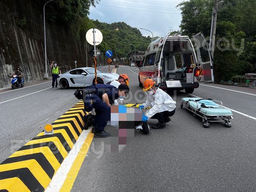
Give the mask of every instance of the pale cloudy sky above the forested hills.
<svg viewBox="0 0 256 192">
<path fill-rule="evenodd" d="M 154 37 L 179 29 L 181 15 L 176 8 L 184 0 L 100 0 L 90 7 L 89 18 L 105 23 L 125 22 L 131 27 L 150 30 Z M 151 32 L 140 29 L 144 36 Z"/>
</svg>

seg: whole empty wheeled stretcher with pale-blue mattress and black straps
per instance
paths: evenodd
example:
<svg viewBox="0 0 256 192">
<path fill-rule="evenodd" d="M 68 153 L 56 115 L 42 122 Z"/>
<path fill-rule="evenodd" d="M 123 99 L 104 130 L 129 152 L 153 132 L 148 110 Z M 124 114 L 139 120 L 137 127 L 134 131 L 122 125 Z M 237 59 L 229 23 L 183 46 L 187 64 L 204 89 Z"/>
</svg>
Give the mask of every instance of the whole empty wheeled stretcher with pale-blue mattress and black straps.
<svg viewBox="0 0 256 192">
<path fill-rule="evenodd" d="M 213 101 L 220 103 L 220 105 Z M 223 108 L 220 101 L 189 97 L 181 99 L 180 108 L 183 108 L 183 105 L 192 111 L 194 117 L 200 116 L 202 118 L 204 128 L 209 128 L 209 122 L 225 122 L 226 127 L 231 127 L 232 111 Z"/>
</svg>

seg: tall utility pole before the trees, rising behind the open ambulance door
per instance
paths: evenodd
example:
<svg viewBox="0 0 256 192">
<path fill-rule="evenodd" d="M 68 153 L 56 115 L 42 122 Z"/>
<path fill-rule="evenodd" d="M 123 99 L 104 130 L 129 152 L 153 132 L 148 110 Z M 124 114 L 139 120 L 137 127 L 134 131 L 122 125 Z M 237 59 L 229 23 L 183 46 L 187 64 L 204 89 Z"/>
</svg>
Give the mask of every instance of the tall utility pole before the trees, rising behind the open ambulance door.
<svg viewBox="0 0 256 192">
<path fill-rule="evenodd" d="M 212 24 L 211 24 L 211 34 L 210 34 L 210 42 L 209 42 L 209 47 L 210 47 L 210 54 L 213 59 L 214 55 L 214 47 L 215 47 L 215 35 L 216 35 L 216 24 L 217 24 L 217 11 L 218 11 L 218 6 L 222 4 L 224 1 L 218 2 L 218 0 L 215 0 L 215 6 L 212 9 Z"/>
</svg>

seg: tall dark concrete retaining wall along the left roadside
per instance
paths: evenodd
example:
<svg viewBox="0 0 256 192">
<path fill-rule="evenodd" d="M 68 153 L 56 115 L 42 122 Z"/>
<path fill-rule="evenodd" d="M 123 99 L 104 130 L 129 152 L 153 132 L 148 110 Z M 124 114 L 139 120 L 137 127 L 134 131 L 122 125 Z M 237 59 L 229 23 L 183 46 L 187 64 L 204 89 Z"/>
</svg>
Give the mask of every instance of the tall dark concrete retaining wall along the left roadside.
<svg viewBox="0 0 256 192">
<path fill-rule="evenodd" d="M 41 0 L 0 0 L 0 88 L 11 85 L 7 75 L 19 67 L 25 81 L 39 81 L 44 77 L 44 15 Z M 49 10 L 48 10 L 49 11 Z M 46 8 L 47 13 L 47 8 Z M 49 12 L 47 14 L 50 14 Z M 26 24 L 21 20 L 26 18 Z M 86 66 L 85 42 L 74 39 L 70 30 L 58 23 L 46 23 L 47 70 L 51 61 L 61 71 Z M 87 44 L 87 49 L 90 50 Z M 88 66 L 90 56 L 88 56 Z"/>
</svg>

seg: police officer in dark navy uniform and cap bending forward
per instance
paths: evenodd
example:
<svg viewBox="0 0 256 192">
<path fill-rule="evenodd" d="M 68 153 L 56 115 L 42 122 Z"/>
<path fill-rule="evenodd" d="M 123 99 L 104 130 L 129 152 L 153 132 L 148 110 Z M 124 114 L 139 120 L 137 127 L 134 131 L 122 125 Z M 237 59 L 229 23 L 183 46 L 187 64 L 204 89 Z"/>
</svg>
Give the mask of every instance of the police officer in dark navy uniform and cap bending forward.
<svg viewBox="0 0 256 192">
<path fill-rule="evenodd" d="M 118 88 L 108 84 L 92 84 L 85 88 L 91 94 L 91 101 L 95 109 L 95 121 L 93 123 L 94 137 L 109 137 L 104 128 L 111 116 L 111 104 L 117 98 L 123 98 L 129 93 L 129 87 L 120 84 Z M 93 91 L 90 91 L 93 90 Z M 87 103 L 84 101 L 84 107 Z"/>
</svg>

